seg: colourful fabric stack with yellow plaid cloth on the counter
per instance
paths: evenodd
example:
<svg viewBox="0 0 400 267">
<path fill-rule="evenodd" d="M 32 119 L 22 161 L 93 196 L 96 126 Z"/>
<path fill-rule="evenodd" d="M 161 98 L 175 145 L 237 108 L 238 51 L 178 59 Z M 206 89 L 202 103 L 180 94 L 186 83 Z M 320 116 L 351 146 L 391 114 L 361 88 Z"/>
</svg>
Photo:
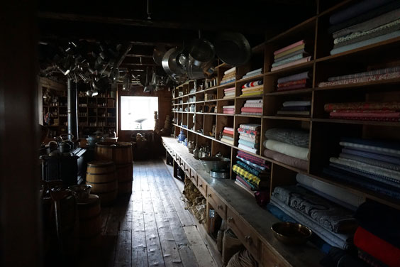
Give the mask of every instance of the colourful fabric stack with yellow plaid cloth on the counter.
<svg viewBox="0 0 400 267">
<path fill-rule="evenodd" d="M 235 184 L 254 195 L 256 191 L 270 187 L 270 167 L 265 160 L 238 151 L 238 161 L 232 170 L 236 173 Z"/>
</svg>

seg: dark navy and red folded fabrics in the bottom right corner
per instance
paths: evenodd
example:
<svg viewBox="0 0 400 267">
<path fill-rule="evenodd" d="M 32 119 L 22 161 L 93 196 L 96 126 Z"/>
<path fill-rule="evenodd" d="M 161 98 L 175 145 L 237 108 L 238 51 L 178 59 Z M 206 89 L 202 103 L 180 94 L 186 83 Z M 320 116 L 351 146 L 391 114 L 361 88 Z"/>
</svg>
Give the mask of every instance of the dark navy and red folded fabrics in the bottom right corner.
<svg viewBox="0 0 400 267">
<path fill-rule="evenodd" d="M 355 213 L 354 244 L 358 257 L 370 266 L 400 266 L 400 211 L 377 202 L 365 202 Z"/>
</svg>

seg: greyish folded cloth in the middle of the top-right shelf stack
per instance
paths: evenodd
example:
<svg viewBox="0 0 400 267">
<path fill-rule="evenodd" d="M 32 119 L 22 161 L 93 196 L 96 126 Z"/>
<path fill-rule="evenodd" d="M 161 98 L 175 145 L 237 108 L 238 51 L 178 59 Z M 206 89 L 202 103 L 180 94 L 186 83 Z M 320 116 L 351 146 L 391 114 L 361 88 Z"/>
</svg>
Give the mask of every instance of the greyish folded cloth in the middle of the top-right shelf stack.
<svg viewBox="0 0 400 267">
<path fill-rule="evenodd" d="M 333 38 L 347 36 L 348 34 L 351 34 L 351 33 L 368 31 L 372 28 L 377 28 L 381 25 L 389 23 L 390 21 L 394 21 L 399 17 L 400 17 L 400 9 L 396 9 L 394 11 L 384 13 L 380 16 L 376 16 L 368 21 L 364 21 L 362 23 L 357 23 L 356 25 L 353 25 L 348 28 L 344 28 L 340 31 L 337 31 L 337 32 L 333 33 Z"/>
</svg>

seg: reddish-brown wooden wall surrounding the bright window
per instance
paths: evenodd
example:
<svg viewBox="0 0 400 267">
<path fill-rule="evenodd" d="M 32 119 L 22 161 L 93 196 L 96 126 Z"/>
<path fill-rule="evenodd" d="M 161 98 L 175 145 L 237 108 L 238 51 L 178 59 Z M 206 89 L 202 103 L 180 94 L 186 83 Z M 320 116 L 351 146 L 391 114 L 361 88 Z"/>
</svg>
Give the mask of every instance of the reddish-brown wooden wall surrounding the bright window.
<svg viewBox="0 0 400 267">
<path fill-rule="evenodd" d="M 167 115 L 172 116 L 172 93 L 168 89 L 162 91 L 145 93 L 143 92 L 143 87 L 137 87 L 134 91 L 124 91 L 122 85 L 118 85 L 118 141 L 133 141 L 130 136 L 132 133 L 144 132 L 144 131 L 122 131 L 121 130 L 121 97 L 158 97 L 158 119 L 160 122 L 160 128 L 164 127 L 165 117 Z"/>
</svg>

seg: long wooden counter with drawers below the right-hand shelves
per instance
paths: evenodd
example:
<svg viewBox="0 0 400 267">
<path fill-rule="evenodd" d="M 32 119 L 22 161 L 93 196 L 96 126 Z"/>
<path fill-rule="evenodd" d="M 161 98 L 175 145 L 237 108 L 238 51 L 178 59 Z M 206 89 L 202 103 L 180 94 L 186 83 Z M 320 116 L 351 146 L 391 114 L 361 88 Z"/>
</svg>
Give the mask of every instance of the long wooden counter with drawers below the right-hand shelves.
<svg viewBox="0 0 400 267">
<path fill-rule="evenodd" d="M 279 219 L 259 207 L 255 198 L 235 185 L 234 180 L 211 178 L 200 160 L 194 159 L 176 139 L 162 137 L 162 144 L 261 266 L 320 266 L 324 254 L 310 242 L 287 246 L 277 241 L 271 225 Z"/>
</svg>

